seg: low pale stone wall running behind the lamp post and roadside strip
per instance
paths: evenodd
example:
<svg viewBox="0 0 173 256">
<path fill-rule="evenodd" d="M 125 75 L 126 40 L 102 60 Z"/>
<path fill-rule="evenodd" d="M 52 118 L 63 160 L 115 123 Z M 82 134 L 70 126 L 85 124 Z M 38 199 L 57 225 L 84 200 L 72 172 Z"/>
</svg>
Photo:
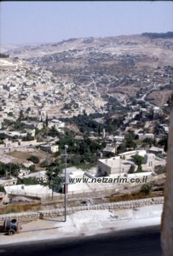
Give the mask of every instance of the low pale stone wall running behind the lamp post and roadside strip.
<svg viewBox="0 0 173 256">
<path fill-rule="evenodd" d="M 121 202 L 113 202 L 113 203 L 103 203 L 99 205 L 88 205 L 82 207 L 67 207 L 66 213 L 71 214 L 72 212 L 85 211 L 85 210 L 119 210 L 119 209 L 134 209 L 138 207 L 147 207 L 151 205 L 158 205 L 164 203 L 164 197 L 153 197 L 147 199 L 140 199 L 134 201 L 121 201 Z M 47 210 L 47 211 L 39 211 L 39 212 L 21 212 L 21 213 L 10 213 L 0 215 L 0 223 L 3 222 L 5 218 L 16 218 L 19 221 L 29 221 L 36 220 L 38 218 L 57 218 L 57 216 L 61 216 L 64 214 L 64 208 Z"/>
</svg>

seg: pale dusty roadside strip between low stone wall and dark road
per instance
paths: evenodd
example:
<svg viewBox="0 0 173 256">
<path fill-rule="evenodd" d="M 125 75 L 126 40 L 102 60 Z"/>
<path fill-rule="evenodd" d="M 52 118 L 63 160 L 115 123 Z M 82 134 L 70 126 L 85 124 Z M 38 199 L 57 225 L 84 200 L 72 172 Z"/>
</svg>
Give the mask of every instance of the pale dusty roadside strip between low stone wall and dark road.
<svg viewBox="0 0 173 256">
<path fill-rule="evenodd" d="M 40 241 L 59 239 L 68 236 L 92 236 L 111 230 L 126 230 L 137 227 L 158 225 L 161 222 L 163 205 L 153 205 L 136 209 L 89 210 L 74 212 L 64 217 L 53 219 L 38 219 L 28 224 L 22 224 L 20 234 L 4 236 L 0 234 L 0 244 L 22 241 Z"/>
</svg>

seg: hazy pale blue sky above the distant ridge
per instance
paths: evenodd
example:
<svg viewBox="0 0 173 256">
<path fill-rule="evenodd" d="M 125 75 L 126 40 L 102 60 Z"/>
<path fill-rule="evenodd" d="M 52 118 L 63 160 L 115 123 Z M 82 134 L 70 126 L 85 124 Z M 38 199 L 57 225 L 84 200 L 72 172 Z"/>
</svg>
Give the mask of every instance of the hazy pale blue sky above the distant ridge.
<svg viewBox="0 0 173 256">
<path fill-rule="evenodd" d="M 1 44 L 173 31 L 173 2 L 2 2 Z"/>
</svg>

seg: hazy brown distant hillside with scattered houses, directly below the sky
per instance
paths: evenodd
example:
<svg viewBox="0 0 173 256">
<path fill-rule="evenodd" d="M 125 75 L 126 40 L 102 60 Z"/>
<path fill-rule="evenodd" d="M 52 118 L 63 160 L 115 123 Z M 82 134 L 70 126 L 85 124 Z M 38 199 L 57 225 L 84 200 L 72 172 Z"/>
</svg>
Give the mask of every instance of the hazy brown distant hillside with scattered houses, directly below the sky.
<svg viewBox="0 0 173 256">
<path fill-rule="evenodd" d="M 130 98 L 141 97 L 159 105 L 166 103 L 171 91 L 173 32 L 70 38 L 25 45 L 6 54 L 66 79 L 66 84 L 73 84 L 72 90 L 88 91 L 97 102 L 112 96 L 126 104 Z M 161 86 L 165 87 L 160 93 L 163 99 L 155 93 Z"/>
</svg>

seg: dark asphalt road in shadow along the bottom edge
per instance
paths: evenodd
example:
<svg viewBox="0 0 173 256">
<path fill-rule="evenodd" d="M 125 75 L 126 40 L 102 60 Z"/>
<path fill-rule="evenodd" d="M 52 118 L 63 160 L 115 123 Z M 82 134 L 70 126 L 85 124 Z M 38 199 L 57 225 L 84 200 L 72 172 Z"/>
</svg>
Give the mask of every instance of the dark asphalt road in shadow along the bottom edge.
<svg viewBox="0 0 173 256">
<path fill-rule="evenodd" d="M 14 235 L 17 236 L 17 235 Z M 0 255 L 161 256 L 159 226 L 112 231 L 97 236 L 4 245 Z"/>
</svg>

